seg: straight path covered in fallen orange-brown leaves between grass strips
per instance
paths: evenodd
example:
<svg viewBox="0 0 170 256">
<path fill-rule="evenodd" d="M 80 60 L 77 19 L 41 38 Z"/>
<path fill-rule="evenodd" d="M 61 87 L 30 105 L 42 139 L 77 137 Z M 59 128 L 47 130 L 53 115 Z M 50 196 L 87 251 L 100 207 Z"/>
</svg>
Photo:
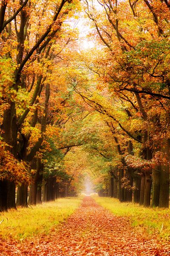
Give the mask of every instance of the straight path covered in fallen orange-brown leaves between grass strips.
<svg viewBox="0 0 170 256">
<path fill-rule="evenodd" d="M 86 196 L 80 207 L 46 236 L 0 242 L 1 256 L 170 256 L 170 244 L 140 234 L 126 217 L 113 215 Z"/>
</svg>

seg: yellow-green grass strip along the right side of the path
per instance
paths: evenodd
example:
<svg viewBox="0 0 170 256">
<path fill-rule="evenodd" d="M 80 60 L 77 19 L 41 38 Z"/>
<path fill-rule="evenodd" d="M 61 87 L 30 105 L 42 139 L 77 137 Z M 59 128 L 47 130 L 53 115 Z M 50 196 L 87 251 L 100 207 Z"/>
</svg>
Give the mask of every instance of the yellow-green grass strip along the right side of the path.
<svg viewBox="0 0 170 256">
<path fill-rule="evenodd" d="M 115 198 L 93 196 L 97 203 L 115 215 L 128 217 L 134 229 L 162 239 L 170 239 L 170 209 L 145 208 L 133 203 L 120 203 Z"/>
</svg>

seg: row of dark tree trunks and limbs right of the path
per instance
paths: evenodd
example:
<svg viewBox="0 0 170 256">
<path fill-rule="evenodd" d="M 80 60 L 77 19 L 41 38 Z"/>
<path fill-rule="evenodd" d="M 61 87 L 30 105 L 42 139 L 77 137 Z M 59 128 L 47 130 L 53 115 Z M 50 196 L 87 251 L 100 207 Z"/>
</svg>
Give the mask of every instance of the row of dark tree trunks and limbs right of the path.
<svg viewBox="0 0 170 256">
<path fill-rule="evenodd" d="M 153 123 L 155 127 L 153 128 L 153 131 L 151 131 L 150 128 L 150 122 L 148 120 L 147 112 L 142 105 L 141 97 L 139 96 L 139 93 L 135 93 L 136 95 L 136 101 L 139 105 L 140 112 L 142 113 L 142 117 L 144 122 L 147 123 L 147 126 L 144 131 L 142 131 L 142 135 L 140 135 L 140 141 L 142 143 L 142 150 L 140 152 L 139 158 L 142 158 L 143 160 L 150 161 L 153 159 L 153 154 L 156 153 L 156 151 L 161 151 L 163 154 L 161 163 L 155 166 L 155 168 L 152 170 L 150 168 L 141 168 L 133 170 L 129 166 L 126 165 L 124 154 L 125 152 L 122 151 L 121 144 L 119 144 L 119 140 L 115 135 L 115 128 L 111 123 L 107 123 L 107 125 L 110 127 L 111 132 L 113 134 L 114 140 L 117 145 L 117 151 L 119 155 L 121 156 L 121 162 L 123 165 L 123 168 L 126 169 L 119 169 L 119 175 L 116 175 L 118 178 L 118 195 L 119 201 L 131 201 L 132 200 L 132 190 L 128 190 L 126 186 L 123 185 L 123 180 L 126 176 L 128 176 L 129 179 L 129 185 L 135 187 L 133 189 L 133 201 L 135 203 L 139 203 L 140 205 L 144 205 L 145 207 L 149 207 L 151 203 L 151 187 L 153 185 L 153 195 L 152 195 L 152 206 L 153 207 L 169 207 L 169 176 L 170 176 L 170 140 L 169 138 L 164 138 L 162 141 L 153 141 L 152 137 L 154 132 L 160 130 L 160 116 L 156 115 L 153 117 Z M 129 116 L 129 115 L 128 115 Z M 169 118 L 169 116 L 167 117 Z M 153 151 L 153 147 L 156 148 L 155 151 Z M 127 145 L 126 151 L 128 154 L 133 155 L 133 144 L 131 140 L 129 141 Z M 125 177 L 124 177 L 125 176 Z M 116 177 L 111 174 L 111 180 L 110 180 L 110 187 L 109 195 L 111 197 L 114 197 L 113 195 L 113 183 L 114 180 L 116 180 Z M 153 180 L 153 184 L 152 184 Z M 102 195 L 103 192 L 99 192 L 99 195 Z M 106 193 L 105 193 L 106 195 Z"/>
</svg>

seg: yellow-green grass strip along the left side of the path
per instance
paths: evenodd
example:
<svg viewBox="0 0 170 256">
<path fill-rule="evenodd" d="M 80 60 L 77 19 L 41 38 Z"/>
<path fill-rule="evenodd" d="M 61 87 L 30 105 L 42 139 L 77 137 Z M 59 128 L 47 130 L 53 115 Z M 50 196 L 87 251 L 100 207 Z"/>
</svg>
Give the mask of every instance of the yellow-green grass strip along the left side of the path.
<svg viewBox="0 0 170 256">
<path fill-rule="evenodd" d="M 79 206 L 81 198 L 61 198 L 55 202 L 0 213 L 0 237 L 24 240 L 48 234 Z"/>
</svg>

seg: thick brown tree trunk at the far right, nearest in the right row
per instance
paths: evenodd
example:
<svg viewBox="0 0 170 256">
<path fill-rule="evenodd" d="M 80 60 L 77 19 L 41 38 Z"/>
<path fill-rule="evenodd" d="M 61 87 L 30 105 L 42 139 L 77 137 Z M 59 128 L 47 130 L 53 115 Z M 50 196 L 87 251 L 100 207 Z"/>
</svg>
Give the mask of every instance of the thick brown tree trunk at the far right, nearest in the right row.
<svg viewBox="0 0 170 256">
<path fill-rule="evenodd" d="M 162 152 L 166 160 L 161 166 L 159 207 L 168 208 L 170 187 L 170 140 L 165 138 L 163 143 Z"/>
</svg>

